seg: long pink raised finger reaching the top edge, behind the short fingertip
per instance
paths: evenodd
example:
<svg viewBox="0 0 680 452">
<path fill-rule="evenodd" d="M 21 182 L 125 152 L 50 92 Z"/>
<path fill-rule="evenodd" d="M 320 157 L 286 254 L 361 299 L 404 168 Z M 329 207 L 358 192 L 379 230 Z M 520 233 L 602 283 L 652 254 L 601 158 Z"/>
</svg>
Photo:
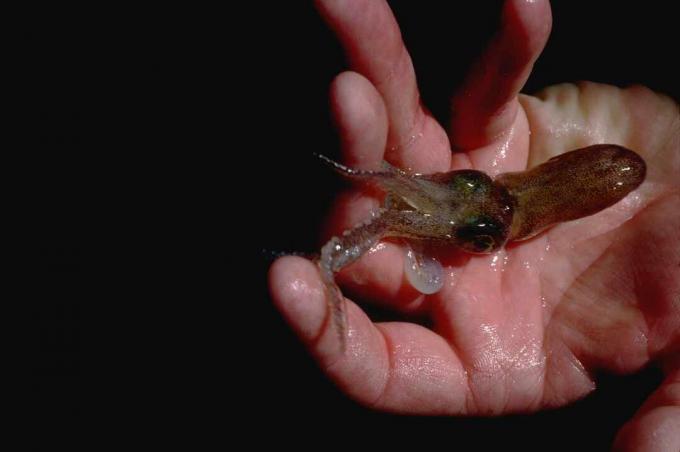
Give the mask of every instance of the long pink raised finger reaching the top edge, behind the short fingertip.
<svg viewBox="0 0 680 452">
<path fill-rule="evenodd" d="M 417 172 L 450 165 L 446 133 L 420 103 L 411 57 L 399 26 L 383 0 L 317 0 L 335 31 L 351 68 L 382 96 L 389 118 L 387 159 Z"/>
</svg>

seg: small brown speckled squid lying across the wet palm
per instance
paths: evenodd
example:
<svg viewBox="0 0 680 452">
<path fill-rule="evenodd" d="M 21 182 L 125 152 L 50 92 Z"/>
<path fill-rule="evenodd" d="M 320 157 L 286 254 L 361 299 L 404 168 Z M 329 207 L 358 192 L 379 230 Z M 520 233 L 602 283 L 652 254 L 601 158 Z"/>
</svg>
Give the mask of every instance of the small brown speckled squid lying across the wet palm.
<svg viewBox="0 0 680 452">
<path fill-rule="evenodd" d="M 319 157 L 343 176 L 386 192 L 372 219 L 331 238 L 317 260 L 343 347 L 347 320 L 334 275 L 381 239 L 401 237 L 416 246 L 416 251 L 407 246 L 406 275 L 414 288 L 432 294 L 442 287 L 443 271 L 418 251 L 418 243 L 492 253 L 509 241 L 529 239 L 556 223 L 612 206 L 636 189 L 646 173 L 639 155 L 613 144 L 576 149 L 494 179 L 476 170 L 408 174 L 387 163 L 380 171 L 362 171 Z"/>
</svg>

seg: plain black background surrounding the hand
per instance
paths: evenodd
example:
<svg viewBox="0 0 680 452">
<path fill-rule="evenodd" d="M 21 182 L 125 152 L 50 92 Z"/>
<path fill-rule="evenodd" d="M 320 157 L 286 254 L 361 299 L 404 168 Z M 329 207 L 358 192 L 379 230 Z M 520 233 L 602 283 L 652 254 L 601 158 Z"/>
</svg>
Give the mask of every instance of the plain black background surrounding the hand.
<svg viewBox="0 0 680 452">
<path fill-rule="evenodd" d="M 424 101 L 446 121 L 500 2 L 390 4 Z M 553 2 L 524 92 L 594 80 L 677 100 L 667 5 Z M 340 185 L 312 152 L 337 153 L 327 91 L 346 64 L 311 3 L 253 6 L 21 16 L 35 412 L 58 432 L 36 436 L 606 450 L 658 371 L 603 375 L 560 410 L 453 419 L 366 410 L 317 369 L 271 306 L 266 271 L 269 251 L 318 248 Z"/>
</svg>

